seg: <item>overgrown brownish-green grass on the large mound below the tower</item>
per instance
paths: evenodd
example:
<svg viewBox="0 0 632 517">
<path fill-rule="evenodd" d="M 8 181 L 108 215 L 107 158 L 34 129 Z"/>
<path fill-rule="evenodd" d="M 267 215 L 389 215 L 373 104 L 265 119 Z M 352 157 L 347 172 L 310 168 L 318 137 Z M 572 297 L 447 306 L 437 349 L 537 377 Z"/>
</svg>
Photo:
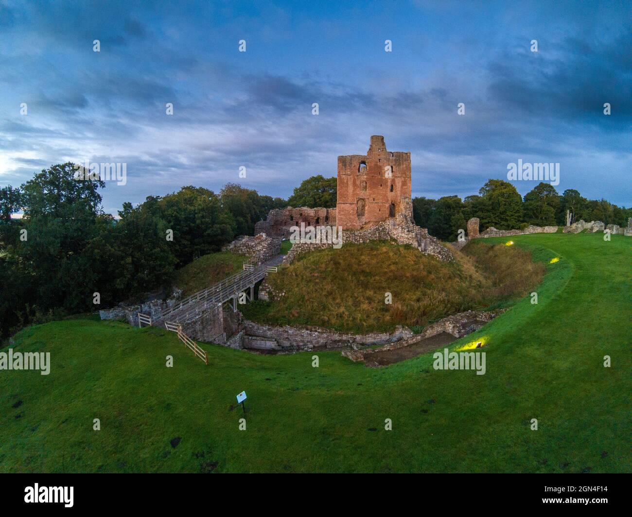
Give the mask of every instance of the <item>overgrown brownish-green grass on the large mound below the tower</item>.
<svg viewBox="0 0 632 517">
<path fill-rule="evenodd" d="M 515 247 L 478 247 L 447 263 L 410 246 L 345 244 L 299 256 L 266 282 L 283 297 L 242 307 L 260 323 L 307 324 L 367 333 L 424 326 L 449 314 L 520 297 L 544 266 Z M 386 304 L 386 293 L 392 304 Z"/>
</svg>

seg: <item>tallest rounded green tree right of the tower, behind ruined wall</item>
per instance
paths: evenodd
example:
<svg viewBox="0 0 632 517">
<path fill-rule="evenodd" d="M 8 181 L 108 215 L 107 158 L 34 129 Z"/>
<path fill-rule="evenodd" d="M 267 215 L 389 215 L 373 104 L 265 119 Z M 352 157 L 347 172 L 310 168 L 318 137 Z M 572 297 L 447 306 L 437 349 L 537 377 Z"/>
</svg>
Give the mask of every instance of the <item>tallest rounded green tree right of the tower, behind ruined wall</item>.
<svg viewBox="0 0 632 517">
<path fill-rule="evenodd" d="M 481 226 L 498 230 L 517 229 L 523 223 L 522 196 L 511 183 L 490 179 L 479 191 L 483 213 Z"/>
</svg>

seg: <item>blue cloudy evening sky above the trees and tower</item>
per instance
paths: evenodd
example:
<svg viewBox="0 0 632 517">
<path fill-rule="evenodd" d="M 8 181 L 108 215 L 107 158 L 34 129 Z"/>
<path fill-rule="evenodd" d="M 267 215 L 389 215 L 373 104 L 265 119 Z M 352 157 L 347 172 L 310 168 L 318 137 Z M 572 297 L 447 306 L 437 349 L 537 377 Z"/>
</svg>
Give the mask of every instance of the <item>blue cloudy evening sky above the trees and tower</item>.
<svg viewBox="0 0 632 517">
<path fill-rule="evenodd" d="M 412 153 L 413 196 L 475 194 L 521 159 L 559 162 L 560 193 L 631 206 L 631 11 L 616 0 L 0 0 L 0 186 L 90 160 L 127 164 L 127 184 L 103 191 L 110 213 L 188 184 L 286 198 L 382 134 Z M 535 184 L 514 182 L 521 194 Z"/>
</svg>

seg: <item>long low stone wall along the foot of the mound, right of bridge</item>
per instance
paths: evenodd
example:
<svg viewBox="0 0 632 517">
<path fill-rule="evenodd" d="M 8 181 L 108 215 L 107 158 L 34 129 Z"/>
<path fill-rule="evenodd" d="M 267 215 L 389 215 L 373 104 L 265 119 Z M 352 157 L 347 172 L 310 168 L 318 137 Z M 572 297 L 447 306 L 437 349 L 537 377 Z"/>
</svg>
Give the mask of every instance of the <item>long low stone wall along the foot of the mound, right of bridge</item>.
<svg viewBox="0 0 632 517">
<path fill-rule="evenodd" d="M 382 345 L 412 336 L 406 327 L 392 333 L 354 335 L 316 326 L 274 326 L 245 321 L 242 346 L 252 350 L 317 350 Z"/>
</svg>

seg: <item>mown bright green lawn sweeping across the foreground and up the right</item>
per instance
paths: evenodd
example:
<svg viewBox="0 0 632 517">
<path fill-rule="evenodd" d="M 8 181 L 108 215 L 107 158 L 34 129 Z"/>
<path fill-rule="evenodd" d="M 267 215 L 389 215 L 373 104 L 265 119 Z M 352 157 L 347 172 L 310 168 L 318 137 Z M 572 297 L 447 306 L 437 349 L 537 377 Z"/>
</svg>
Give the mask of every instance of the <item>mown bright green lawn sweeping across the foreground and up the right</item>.
<svg viewBox="0 0 632 517">
<path fill-rule="evenodd" d="M 27 328 L 16 350 L 51 352 L 51 374 L 0 371 L 0 472 L 629 472 L 632 239 L 512 239 L 546 273 L 537 305 L 451 345 L 485 336 L 483 376 L 435 371 L 432 354 L 368 369 L 325 352 L 313 368 L 311 352 L 202 345 L 207 367 L 155 328 Z"/>
</svg>

